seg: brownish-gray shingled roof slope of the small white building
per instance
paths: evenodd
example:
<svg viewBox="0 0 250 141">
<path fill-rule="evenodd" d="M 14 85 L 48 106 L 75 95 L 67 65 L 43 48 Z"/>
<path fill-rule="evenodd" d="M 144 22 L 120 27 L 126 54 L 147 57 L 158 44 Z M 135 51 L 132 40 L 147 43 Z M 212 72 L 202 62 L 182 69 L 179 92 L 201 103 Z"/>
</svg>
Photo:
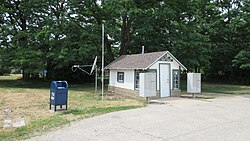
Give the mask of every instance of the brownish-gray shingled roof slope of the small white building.
<svg viewBox="0 0 250 141">
<path fill-rule="evenodd" d="M 105 69 L 148 69 L 166 53 L 168 51 L 122 55 L 107 65 Z"/>
</svg>

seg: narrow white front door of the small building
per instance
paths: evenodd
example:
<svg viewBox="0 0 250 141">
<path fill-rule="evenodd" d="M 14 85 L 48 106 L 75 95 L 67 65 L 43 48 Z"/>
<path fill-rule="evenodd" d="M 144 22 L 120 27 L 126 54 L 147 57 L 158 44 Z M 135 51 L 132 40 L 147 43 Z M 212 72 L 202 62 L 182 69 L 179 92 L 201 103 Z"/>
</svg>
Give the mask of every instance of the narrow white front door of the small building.
<svg viewBox="0 0 250 141">
<path fill-rule="evenodd" d="M 170 64 L 160 64 L 160 97 L 170 96 Z"/>
</svg>

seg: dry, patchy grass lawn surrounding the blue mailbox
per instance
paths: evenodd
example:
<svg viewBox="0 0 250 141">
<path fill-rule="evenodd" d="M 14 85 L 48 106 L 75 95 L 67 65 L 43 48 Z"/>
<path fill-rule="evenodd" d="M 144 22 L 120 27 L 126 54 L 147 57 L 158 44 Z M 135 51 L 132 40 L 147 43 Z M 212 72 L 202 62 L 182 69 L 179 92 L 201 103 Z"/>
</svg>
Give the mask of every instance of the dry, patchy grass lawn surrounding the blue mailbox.
<svg viewBox="0 0 250 141">
<path fill-rule="evenodd" d="M 69 83 L 68 111 L 55 113 L 49 110 L 50 81 L 23 81 L 19 79 L 20 77 L 20 75 L 0 76 L 1 141 L 23 140 L 72 121 L 145 106 L 145 102 L 141 100 L 114 96 L 105 96 L 105 99 L 101 100 L 100 88 L 96 95 L 94 83 Z M 3 111 L 6 108 L 11 108 L 13 112 L 5 114 Z M 20 118 L 26 120 L 26 126 L 16 129 L 3 128 L 4 120 L 10 119 L 14 122 Z"/>
</svg>

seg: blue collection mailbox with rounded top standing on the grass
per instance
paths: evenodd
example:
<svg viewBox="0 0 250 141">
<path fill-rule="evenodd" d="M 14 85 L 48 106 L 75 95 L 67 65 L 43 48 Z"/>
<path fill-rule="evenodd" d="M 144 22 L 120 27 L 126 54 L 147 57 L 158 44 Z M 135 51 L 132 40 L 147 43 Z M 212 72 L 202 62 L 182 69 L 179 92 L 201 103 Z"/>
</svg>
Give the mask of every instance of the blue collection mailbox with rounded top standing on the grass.
<svg viewBox="0 0 250 141">
<path fill-rule="evenodd" d="M 50 85 L 50 110 L 51 105 L 54 105 L 54 111 L 56 106 L 66 105 L 68 109 L 68 83 L 67 81 L 52 81 Z"/>
</svg>

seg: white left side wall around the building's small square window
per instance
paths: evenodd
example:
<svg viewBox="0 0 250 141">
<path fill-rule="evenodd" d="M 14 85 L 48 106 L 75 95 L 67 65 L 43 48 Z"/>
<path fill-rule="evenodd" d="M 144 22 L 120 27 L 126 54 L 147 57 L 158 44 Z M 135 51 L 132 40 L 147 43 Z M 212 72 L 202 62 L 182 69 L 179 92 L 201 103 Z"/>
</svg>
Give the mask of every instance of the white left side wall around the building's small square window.
<svg viewBox="0 0 250 141">
<path fill-rule="evenodd" d="M 124 82 L 117 82 L 117 72 L 124 72 Z M 110 70 L 109 85 L 134 90 L 134 70 Z"/>
</svg>

